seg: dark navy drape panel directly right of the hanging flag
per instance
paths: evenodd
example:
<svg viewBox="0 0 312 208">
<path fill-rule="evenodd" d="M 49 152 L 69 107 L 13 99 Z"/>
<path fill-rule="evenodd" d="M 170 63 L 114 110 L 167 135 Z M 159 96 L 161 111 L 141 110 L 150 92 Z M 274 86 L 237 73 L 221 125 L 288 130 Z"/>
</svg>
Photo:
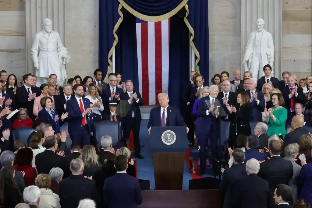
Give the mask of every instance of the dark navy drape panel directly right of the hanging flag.
<svg viewBox="0 0 312 208">
<path fill-rule="evenodd" d="M 169 104 L 181 109 L 181 89 L 189 81 L 189 31 L 179 14 L 170 19 Z"/>
</svg>

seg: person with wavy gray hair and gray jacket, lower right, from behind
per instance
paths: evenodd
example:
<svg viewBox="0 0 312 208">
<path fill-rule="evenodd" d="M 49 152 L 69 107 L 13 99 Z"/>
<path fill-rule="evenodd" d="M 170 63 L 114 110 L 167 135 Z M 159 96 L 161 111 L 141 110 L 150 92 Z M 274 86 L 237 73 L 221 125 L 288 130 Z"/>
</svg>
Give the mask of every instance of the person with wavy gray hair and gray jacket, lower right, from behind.
<svg viewBox="0 0 312 208">
<path fill-rule="evenodd" d="M 284 152 L 285 152 L 284 159 L 289 160 L 294 168 L 294 174 L 289 181 L 289 187 L 291 188 L 292 199 L 295 202 L 298 200 L 297 178 L 300 173 L 301 166 L 295 163 L 294 160 L 299 152 L 299 144 L 292 143 L 287 145 Z"/>
</svg>

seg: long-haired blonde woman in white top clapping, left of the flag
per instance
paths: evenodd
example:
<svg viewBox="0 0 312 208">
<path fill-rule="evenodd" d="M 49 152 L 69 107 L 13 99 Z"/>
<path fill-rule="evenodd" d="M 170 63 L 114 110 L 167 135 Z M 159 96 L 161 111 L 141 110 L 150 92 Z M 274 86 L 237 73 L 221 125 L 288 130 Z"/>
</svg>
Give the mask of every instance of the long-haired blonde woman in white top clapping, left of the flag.
<svg viewBox="0 0 312 208">
<path fill-rule="evenodd" d="M 100 122 L 102 120 L 102 115 L 100 112 L 104 110 L 104 106 L 102 103 L 102 99 L 98 93 L 97 88 L 95 87 L 95 84 L 89 84 L 87 96 L 85 98 L 89 99 L 91 103 L 93 103 L 94 111 L 93 113 L 99 115 L 95 116 L 93 118 L 94 122 Z"/>
</svg>

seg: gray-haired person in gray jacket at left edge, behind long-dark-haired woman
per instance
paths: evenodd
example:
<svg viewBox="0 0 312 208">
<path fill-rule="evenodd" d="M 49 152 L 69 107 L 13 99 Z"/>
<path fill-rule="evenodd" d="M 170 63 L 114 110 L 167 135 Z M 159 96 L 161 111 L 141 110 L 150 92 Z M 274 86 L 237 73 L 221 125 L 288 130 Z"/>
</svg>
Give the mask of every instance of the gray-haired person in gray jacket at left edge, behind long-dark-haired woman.
<svg viewBox="0 0 312 208">
<path fill-rule="evenodd" d="M 13 166 L 14 159 L 15 159 L 15 154 L 14 154 L 14 152 L 12 152 L 10 150 L 6 150 L 6 151 L 2 152 L 2 154 L 0 156 L 0 162 L 1 162 L 1 165 L 3 167 L 6 165 L 12 165 Z M 0 172 L 1 172 L 1 170 L 0 170 Z M 14 177 L 17 186 L 21 190 L 21 193 L 23 193 L 24 189 L 26 188 L 23 174 L 25 174 L 25 173 L 22 173 L 20 171 L 15 171 L 15 177 Z"/>
</svg>

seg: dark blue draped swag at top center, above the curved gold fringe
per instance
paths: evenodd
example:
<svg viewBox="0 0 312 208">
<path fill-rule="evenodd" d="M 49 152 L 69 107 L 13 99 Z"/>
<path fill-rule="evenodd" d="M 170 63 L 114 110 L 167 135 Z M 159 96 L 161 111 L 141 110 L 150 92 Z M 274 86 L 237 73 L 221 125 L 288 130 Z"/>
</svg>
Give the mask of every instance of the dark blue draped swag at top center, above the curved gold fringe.
<svg viewBox="0 0 312 208">
<path fill-rule="evenodd" d="M 124 0 L 135 11 L 148 15 L 159 16 L 171 12 L 183 0 Z"/>
</svg>

